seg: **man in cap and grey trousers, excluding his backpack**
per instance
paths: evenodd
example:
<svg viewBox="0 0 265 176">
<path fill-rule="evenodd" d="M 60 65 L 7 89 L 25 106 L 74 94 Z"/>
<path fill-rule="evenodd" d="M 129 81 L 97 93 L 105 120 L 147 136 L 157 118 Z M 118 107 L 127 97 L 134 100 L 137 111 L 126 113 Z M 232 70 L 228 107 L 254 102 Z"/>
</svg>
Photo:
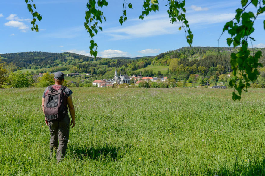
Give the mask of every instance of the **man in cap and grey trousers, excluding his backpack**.
<svg viewBox="0 0 265 176">
<path fill-rule="evenodd" d="M 52 86 L 53 89 L 59 90 L 61 86 L 63 85 L 64 82 L 64 74 L 60 71 L 56 72 L 54 74 L 53 80 L 55 81 L 55 84 Z M 47 87 L 42 95 L 42 109 L 44 113 L 44 100 L 45 96 L 47 95 L 49 91 L 49 88 Z M 69 88 L 65 88 L 63 90 L 63 93 L 65 96 L 67 96 L 67 105 L 70 111 L 71 115 L 71 126 L 72 128 L 75 126 L 75 109 L 72 101 L 72 91 Z M 45 113 L 45 123 L 46 125 L 49 126 L 50 129 L 50 157 L 52 158 L 53 156 L 53 151 L 57 149 L 56 153 L 56 159 L 57 163 L 61 161 L 62 156 L 65 155 L 67 144 L 68 144 L 68 139 L 69 139 L 69 129 L 70 129 L 70 118 L 67 112 L 67 105 L 66 105 L 66 113 L 64 117 L 62 117 L 60 120 L 57 121 L 50 121 L 46 118 Z M 59 140 L 59 146 L 58 146 L 58 140 Z"/>
</svg>

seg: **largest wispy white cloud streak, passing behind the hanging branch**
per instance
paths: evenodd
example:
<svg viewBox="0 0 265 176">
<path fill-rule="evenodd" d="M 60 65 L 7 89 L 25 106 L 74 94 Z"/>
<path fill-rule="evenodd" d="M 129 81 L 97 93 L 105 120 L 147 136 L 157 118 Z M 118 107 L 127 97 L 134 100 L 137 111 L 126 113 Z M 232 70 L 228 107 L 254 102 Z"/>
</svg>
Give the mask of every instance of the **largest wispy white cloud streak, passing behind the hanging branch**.
<svg viewBox="0 0 265 176">
<path fill-rule="evenodd" d="M 203 13 L 186 16 L 189 24 L 206 26 L 207 24 L 224 23 L 232 20 L 233 17 L 235 17 L 235 14 Z M 182 26 L 182 24 L 179 22 L 174 24 L 170 23 L 170 19 L 168 18 L 167 14 L 152 15 L 149 18 L 145 18 L 144 20 L 134 19 L 131 21 L 133 21 L 132 25 L 105 29 L 103 33 L 111 36 L 112 40 L 124 40 L 165 34 L 176 34 L 179 32 L 179 26 Z"/>
</svg>

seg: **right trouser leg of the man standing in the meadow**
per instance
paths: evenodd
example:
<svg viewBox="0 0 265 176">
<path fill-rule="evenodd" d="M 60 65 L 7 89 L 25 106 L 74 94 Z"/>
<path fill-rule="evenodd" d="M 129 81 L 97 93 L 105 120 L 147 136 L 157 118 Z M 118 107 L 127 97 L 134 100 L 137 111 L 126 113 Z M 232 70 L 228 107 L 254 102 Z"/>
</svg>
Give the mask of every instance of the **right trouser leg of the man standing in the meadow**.
<svg viewBox="0 0 265 176">
<path fill-rule="evenodd" d="M 65 155 L 68 139 L 69 139 L 69 128 L 70 128 L 70 118 L 67 114 L 61 121 L 59 121 L 58 127 L 58 138 L 59 138 L 59 147 L 56 153 L 57 162 L 60 162 L 61 157 Z"/>
</svg>

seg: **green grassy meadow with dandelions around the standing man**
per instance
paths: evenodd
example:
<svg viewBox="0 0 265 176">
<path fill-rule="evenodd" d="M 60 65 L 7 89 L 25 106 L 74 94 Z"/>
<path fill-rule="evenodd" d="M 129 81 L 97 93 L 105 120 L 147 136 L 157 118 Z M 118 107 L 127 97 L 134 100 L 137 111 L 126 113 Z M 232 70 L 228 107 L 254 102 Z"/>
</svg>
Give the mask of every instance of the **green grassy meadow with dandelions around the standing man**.
<svg viewBox="0 0 265 176">
<path fill-rule="evenodd" d="M 49 158 L 43 88 L 0 90 L 2 175 L 264 175 L 265 89 L 72 88 L 76 126 Z"/>
</svg>

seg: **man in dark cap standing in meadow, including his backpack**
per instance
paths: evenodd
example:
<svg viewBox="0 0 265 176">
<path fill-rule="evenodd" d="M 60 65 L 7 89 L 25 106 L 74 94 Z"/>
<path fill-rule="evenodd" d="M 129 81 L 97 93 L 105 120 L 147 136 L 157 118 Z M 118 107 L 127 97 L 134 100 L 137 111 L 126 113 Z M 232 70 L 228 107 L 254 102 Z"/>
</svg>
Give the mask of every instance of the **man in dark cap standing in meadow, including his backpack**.
<svg viewBox="0 0 265 176">
<path fill-rule="evenodd" d="M 75 109 L 72 101 L 73 92 L 62 86 L 64 74 L 60 71 L 56 72 L 53 80 L 55 84 L 48 86 L 42 95 L 42 109 L 45 115 L 45 123 L 50 129 L 50 157 L 52 158 L 53 151 L 57 150 L 56 159 L 58 163 L 65 155 L 69 139 L 70 118 L 68 108 L 72 118 L 72 128 L 75 126 Z"/>
</svg>

